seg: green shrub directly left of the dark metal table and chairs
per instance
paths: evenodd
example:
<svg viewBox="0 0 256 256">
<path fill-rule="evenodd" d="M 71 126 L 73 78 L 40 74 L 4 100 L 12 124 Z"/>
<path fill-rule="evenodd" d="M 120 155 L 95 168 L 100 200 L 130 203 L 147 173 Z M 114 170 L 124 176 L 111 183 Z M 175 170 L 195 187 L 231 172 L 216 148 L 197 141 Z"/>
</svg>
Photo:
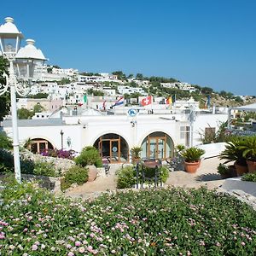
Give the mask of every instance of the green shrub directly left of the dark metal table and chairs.
<svg viewBox="0 0 256 256">
<path fill-rule="evenodd" d="M 133 166 L 126 166 L 122 169 L 119 169 L 117 172 L 117 188 L 126 189 L 131 188 L 136 184 L 136 171 Z"/>
</svg>

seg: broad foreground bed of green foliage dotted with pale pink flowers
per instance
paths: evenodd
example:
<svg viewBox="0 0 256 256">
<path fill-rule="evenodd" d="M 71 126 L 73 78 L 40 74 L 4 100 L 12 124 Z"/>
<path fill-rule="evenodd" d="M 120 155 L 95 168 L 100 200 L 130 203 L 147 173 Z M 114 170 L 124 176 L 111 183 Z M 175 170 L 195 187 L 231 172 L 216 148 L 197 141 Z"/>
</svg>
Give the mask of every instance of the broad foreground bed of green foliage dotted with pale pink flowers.
<svg viewBox="0 0 256 256">
<path fill-rule="evenodd" d="M 29 183 L 6 188 L 0 206 L 3 255 L 256 253 L 253 208 L 205 188 L 143 189 L 90 202 L 54 198 Z"/>
</svg>

